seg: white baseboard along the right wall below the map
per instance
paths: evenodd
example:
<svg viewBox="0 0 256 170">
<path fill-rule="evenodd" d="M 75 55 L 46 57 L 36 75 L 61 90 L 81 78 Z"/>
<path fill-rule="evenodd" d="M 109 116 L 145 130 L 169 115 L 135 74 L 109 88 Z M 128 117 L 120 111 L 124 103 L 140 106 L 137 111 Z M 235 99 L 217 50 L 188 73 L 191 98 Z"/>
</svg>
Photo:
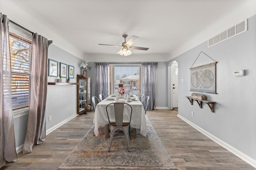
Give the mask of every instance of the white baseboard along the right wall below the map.
<svg viewBox="0 0 256 170">
<path fill-rule="evenodd" d="M 243 152 L 241 152 L 240 150 L 228 145 L 228 143 L 226 143 L 226 142 L 222 141 L 221 139 L 215 137 L 214 135 L 208 133 L 207 131 L 205 131 L 201 127 L 197 126 L 196 124 L 192 123 L 185 117 L 183 117 L 179 114 L 178 114 L 178 117 L 180 117 L 180 119 L 182 119 L 183 121 L 185 121 L 186 123 L 188 123 L 189 125 L 194 127 L 196 130 L 200 131 L 202 134 L 206 135 L 208 138 L 212 139 L 214 142 L 218 143 L 220 146 L 224 147 L 228 151 L 232 152 L 233 154 L 235 154 L 236 156 L 238 156 L 239 158 L 241 158 L 242 160 L 244 160 L 245 162 L 247 162 L 248 164 L 250 164 L 251 166 L 256 168 L 256 160 L 254 160 L 250 156 L 248 156 L 248 155 L 244 154 Z"/>
</svg>

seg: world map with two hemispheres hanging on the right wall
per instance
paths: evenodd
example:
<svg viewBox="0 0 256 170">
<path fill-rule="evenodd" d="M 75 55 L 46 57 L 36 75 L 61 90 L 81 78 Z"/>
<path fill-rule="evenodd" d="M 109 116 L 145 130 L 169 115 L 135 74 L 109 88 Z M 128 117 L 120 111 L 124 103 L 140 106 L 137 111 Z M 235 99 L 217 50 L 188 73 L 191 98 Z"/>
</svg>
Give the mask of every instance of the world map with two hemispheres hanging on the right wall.
<svg viewBox="0 0 256 170">
<path fill-rule="evenodd" d="M 215 65 L 210 63 L 190 68 L 190 91 L 216 93 Z"/>
</svg>

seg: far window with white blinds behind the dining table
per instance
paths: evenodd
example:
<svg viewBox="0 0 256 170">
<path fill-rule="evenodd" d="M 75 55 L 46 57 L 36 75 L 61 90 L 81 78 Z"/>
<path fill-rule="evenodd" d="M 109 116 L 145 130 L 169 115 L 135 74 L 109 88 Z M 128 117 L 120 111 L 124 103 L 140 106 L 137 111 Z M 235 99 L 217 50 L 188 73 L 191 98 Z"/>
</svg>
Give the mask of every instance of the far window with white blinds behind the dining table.
<svg viewBox="0 0 256 170">
<path fill-rule="evenodd" d="M 141 94 L 141 65 L 139 64 L 112 64 L 110 72 L 110 94 L 116 94 L 119 84 L 122 84 L 126 92 Z"/>
</svg>

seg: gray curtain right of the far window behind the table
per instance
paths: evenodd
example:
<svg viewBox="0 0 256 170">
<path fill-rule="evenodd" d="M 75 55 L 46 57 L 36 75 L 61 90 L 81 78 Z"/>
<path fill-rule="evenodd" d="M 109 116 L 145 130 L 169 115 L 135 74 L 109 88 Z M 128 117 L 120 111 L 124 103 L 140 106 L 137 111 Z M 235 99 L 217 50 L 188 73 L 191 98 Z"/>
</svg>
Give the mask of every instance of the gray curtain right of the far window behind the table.
<svg viewBox="0 0 256 170">
<path fill-rule="evenodd" d="M 144 98 L 149 96 L 148 110 L 155 107 L 155 89 L 156 89 L 156 69 L 157 63 L 142 63 L 141 66 L 141 91 Z"/>
</svg>

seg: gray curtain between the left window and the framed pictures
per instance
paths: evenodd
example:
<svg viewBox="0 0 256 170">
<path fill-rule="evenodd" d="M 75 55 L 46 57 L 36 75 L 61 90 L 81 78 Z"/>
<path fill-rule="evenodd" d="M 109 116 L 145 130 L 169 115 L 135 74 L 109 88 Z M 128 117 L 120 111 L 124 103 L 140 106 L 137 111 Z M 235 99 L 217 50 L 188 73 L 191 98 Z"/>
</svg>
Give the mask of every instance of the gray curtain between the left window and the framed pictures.
<svg viewBox="0 0 256 170">
<path fill-rule="evenodd" d="M 23 154 L 32 152 L 32 146 L 46 138 L 45 105 L 47 94 L 48 41 L 34 33 L 32 39 L 31 85 L 28 126 Z"/>
</svg>

